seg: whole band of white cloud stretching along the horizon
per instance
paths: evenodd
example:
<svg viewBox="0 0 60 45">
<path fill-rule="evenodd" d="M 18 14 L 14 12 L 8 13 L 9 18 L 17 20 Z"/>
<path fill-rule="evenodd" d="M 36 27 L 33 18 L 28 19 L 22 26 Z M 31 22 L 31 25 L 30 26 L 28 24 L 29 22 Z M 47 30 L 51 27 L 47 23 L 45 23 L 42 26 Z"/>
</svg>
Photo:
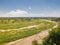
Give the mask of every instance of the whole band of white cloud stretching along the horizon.
<svg viewBox="0 0 60 45">
<path fill-rule="evenodd" d="M 42 13 L 28 13 L 25 10 L 12 10 L 10 12 L 1 12 L 0 17 L 60 17 L 60 11 L 50 11 Z"/>
</svg>

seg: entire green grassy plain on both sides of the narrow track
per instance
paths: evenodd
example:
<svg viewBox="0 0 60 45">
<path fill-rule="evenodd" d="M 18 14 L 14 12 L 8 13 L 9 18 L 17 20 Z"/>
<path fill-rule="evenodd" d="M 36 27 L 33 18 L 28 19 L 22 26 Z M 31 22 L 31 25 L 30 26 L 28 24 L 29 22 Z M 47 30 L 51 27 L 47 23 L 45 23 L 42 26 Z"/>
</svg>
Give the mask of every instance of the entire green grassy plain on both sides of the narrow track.
<svg viewBox="0 0 60 45">
<path fill-rule="evenodd" d="M 18 30 L 18 28 L 27 27 L 31 25 L 39 26 L 29 29 L 26 28 Z M 5 45 L 5 43 L 32 36 L 41 32 L 42 30 L 52 28 L 54 25 L 55 24 L 52 22 L 43 21 L 41 19 L 0 19 L 0 30 L 11 29 L 11 31 L 6 32 L 0 31 L 0 45 Z"/>
</svg>

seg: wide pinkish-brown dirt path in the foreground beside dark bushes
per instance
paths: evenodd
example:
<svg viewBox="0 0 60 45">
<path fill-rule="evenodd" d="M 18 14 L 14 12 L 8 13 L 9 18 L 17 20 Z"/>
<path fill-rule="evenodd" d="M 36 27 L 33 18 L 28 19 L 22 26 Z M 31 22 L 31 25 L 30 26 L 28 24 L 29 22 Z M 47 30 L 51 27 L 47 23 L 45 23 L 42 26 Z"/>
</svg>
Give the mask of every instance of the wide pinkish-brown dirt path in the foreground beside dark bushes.
<svg viewBox="0 0 60 45">
<path fill-rule="evenodd" d="M 57 26 L 58 25 L 56 24 L 53 28 L 56 28 Z M 23 39 L 16 40 L 14 42 L 10 42 L 6 45 L 32 45 L 33 40 L 37 40 L 38 43 L 42 44 L 43 42 L 42 39 L 49 35 L 49 31 L 51 31 L 51 29 L 44 30 L 40 32 L 39 34 L 35 34 L 27 38 L 23 38 Z"/>
</svg>

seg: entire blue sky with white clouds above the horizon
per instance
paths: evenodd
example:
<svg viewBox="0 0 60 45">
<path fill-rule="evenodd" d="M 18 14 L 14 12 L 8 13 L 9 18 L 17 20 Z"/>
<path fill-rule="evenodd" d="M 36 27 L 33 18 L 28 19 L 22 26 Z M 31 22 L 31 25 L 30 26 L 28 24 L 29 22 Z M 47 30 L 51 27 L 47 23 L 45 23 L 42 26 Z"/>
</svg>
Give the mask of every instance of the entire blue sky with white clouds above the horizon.
<svg viewBox="0 0 60 45">
<path fill-rule="evenodd" d="M 0 0 L 0 17 L 60 17 L 60 0 Z"/>
</svg>

